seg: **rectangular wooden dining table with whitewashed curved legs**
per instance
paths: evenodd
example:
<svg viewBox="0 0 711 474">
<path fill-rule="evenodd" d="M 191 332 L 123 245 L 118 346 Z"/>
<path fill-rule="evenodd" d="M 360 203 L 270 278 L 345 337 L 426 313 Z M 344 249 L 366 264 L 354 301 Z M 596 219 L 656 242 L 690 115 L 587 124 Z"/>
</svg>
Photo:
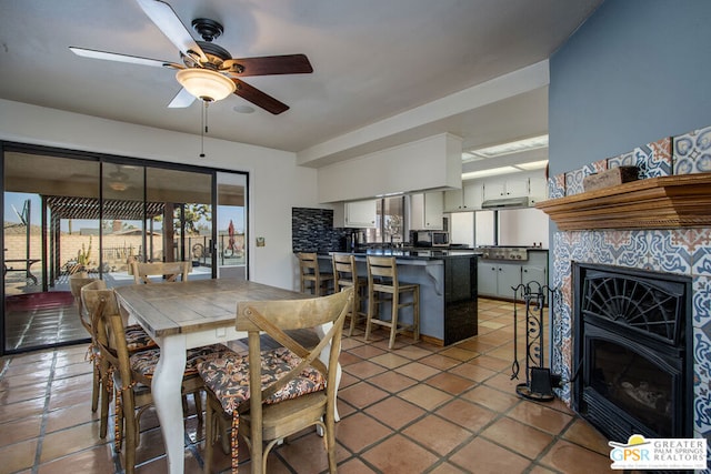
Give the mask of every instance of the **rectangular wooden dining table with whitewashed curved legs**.
<svg viewBox="0 0 711 474">
<path fill-rule="evenodd" d="M 114 292 L 130 319 L 160 346 L 151 392 L 171 474 L 184 471 L 181 383 L 187 350 L 247 337 L 247 332 L 236 330 L 237 304 L 240 302 L 314 297 L 240 279 L 134 284 L 118 286 Z M 322 336 L 328 330 L 323 326 L 317 329 L 317 333 Z M 324 362 L 328 363 L 328 351 L 324 353 Z M 339 365 L 337 386 L 340 375 Z"/>
</svg>

